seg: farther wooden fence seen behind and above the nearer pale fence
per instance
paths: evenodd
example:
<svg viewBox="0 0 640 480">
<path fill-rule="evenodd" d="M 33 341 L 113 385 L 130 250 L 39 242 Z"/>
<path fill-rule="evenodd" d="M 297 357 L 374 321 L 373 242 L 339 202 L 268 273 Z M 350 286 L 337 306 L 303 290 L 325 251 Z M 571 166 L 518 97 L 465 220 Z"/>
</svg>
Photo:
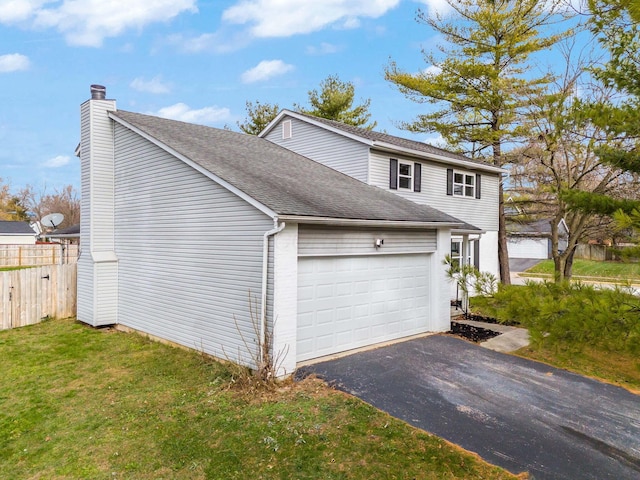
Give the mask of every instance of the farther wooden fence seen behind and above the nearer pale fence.
<svg viewBox="0 0 640 480">
<path fill-rule="evenodd" d="M 78 245 L 0 245 L 0 267 L 58 265 L 77 261 Z"/>
</svg>

